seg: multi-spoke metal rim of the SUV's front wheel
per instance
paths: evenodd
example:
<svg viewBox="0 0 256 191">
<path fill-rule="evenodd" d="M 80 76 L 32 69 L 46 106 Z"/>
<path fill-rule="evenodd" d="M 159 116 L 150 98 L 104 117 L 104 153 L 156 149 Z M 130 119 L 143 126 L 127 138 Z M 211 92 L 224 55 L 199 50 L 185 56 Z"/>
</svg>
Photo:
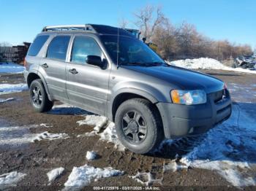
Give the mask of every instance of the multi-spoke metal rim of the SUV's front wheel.
<svg viewBox="0 0 256 191">
<path fill-rule="evenodd" d="M 122 119 L 122 130 L 127 140 L 132 143 L 140 143 L 146 139 L 147 125 L 142 114 L 137 111 L 129 111 Z"/>
</svg>

